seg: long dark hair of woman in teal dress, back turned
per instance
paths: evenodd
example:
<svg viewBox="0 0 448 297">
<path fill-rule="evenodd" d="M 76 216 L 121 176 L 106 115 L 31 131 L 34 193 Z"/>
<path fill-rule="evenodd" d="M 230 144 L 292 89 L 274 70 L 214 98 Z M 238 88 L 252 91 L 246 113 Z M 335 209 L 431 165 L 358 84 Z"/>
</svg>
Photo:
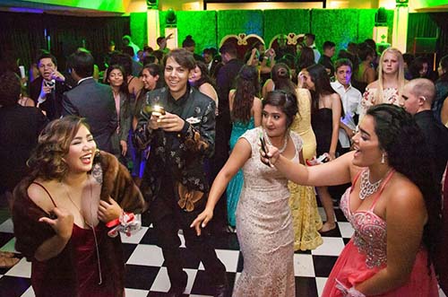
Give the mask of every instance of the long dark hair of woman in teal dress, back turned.
<svg viewBox="0 0 448 297">
<path fill-rule="evenodd" d="M 254 98 L 260 90 L 258 70 L 254 66 L 245 65 L 241 67 L 235 82 L 237 83 L 237 90 L 232 106 L 232 121 L 240 120 L 247 123 L 251 118 Z"/>
</svg>

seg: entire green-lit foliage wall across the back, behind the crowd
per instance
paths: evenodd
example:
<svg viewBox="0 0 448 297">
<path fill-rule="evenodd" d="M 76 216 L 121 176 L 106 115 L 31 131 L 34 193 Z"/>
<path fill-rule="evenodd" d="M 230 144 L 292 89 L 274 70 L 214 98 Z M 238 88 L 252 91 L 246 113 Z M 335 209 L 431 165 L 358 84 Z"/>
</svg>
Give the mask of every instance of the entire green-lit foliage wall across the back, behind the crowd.
<svg viewBox="0 0 448 297">
<path fill-rule="evenodd" d="M 289 9 L 289 10 L 227 10 L 176 12 L 179 47 L 186 35 L 192 35 L 196 52 L 216 47 L 229 34 L 246 33 L 261 36 L 266 44 L 280 33 L 316 34 L 316 46 L 322 52 L 325 40 L 336 43 L 336 50 L 346 48 L 349 41 L 371 39 L 376 9 Z M 392 41 L 393 10 L 387 11 L 389 41 Z M 160 33 L 166 27 L 166 11 L 159 12 Z M 142 47 L 147 39 L 146 13 L 131 13 L 131 34 Z"/>
</svg>

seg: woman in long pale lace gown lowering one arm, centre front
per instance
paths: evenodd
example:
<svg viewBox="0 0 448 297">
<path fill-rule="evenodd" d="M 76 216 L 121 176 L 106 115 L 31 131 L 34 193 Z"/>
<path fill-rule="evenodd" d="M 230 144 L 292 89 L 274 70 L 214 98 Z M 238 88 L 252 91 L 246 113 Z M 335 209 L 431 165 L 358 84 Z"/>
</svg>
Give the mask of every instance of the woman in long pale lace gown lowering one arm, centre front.
<svg viewBox="0 0 448 297">
<path fill-rule="evenodd" d="M 263 100 L 263 128 L 242 135 L 211 186 L 209 200 L 192 227 L 198 234 L 213 216 L 213 208 L 228 181 L 243 169 L 244 185 L 237 205 L 237 237 L 244 257 L 243 272 L 233 296 L 294 297 L 294 231 L 289 210 L 288 179 L 260 162 L 260 137 L 293 162 L 303 160 L 302 139 L 289 132 L 297 114 L 295 95 L 269 92 Z M 269 164 L 268 164 L 269 165 Z"/>
</svg>

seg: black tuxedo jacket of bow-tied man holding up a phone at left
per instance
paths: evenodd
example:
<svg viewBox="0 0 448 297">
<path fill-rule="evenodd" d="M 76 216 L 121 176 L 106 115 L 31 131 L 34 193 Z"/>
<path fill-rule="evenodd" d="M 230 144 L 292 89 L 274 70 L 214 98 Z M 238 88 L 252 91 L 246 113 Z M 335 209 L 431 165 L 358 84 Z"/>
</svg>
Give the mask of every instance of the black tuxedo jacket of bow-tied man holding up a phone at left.
<svg viewBox="0 0 448 297">
<path fill-rule="evenodd" d="M 34 100 L 35 104 L 38 104 L 38 98 L 40 89 L 42 88 L 42 81 L 44 78 L 39 76 L 30 83 L 30 98 Z M 65 83 L 57 82 L 55 90 L 47 94 L 47 100 L 39 105 L 39 109 L 42 109 L 47 114 L 47 118 L 52 120 L 55 118 L 61 118 L 62 115 L 62 98 L 64 92 L 70 90 Z"/>
</svg>

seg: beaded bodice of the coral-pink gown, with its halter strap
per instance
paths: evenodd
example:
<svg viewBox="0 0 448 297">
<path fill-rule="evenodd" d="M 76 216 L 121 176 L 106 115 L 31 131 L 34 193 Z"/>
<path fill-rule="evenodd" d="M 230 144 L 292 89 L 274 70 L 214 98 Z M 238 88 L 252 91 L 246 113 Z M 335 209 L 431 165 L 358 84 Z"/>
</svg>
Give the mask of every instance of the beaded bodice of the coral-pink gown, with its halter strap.
<svg viewBox="0 0 448 297">
<path fill-rule="evenodd" d="M 381 189 L 375 194 L 372 206 L 368 210 L 353 213 L 350 211 L 349 197 L 351 188 L 348 188 L 340 198 L 340 209 L 355 230 L 353 234 L 354 244 L 360 253 L 366 255 L 366 266 L 368 268 L 383 266 L 387 262 L 386 222 L 374 213 L 374 209 L 378 198 L 381 196 L 383 187 L 392 177 L 392 173 L 393 171 L 384 180 Z M 354 180 L 353 184 L 356 183 L 357 179 Z"/>
</svg>

